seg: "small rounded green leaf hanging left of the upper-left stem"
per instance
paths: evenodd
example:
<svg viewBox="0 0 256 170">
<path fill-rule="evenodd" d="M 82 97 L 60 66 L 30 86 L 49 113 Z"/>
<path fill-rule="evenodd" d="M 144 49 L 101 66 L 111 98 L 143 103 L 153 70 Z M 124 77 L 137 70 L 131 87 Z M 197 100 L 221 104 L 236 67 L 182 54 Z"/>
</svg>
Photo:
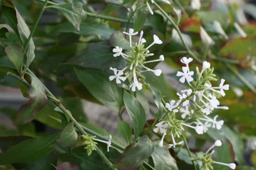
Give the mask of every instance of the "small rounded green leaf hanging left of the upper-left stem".
<svg viewBox="0 0 256 170">
<path fill-rule="evenodd" d="M 9 44 L 5 48 L 5 52 L 9 57 L 10 61 L 15 65 L 18 73 L 22 65 L 22 49 L 18 44 Z"/>
</svg>

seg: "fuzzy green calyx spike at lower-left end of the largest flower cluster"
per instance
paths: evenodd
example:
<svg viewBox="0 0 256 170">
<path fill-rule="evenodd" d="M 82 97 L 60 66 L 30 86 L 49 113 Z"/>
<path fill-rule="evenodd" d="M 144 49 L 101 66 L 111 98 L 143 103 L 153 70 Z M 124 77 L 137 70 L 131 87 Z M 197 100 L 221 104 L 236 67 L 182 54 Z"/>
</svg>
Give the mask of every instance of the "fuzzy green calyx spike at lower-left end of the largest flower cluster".
<svg viewBox="0 0 256 170">
<path fill-rule="evenodd" d="M 174 112 L 168 113 L 167 117 L 163 121 L 166 121 L 169 123 L 169 125 L 171 125 L 167 128 L 167 134 L 173 134 L 174 137 L 177 135 L 181 135 L 182 130 L 180 126 L 182 125 L 183 121 L 176 119 L 176 115 Z"/>
</svg>

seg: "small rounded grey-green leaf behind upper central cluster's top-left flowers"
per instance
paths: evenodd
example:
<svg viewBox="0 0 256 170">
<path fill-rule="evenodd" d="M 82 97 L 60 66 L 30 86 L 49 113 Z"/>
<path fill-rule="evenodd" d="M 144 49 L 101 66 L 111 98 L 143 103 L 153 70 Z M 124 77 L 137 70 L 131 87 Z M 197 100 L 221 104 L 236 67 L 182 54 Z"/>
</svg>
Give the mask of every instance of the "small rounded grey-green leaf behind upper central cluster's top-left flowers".
<svg viewBox="0 0 256 170">
<path fill-rule="evenodd" d="M 124 35 L 121 31 L 114 32 L 111 35 L 109 42 L 113 47 L 118 46 L 122 49 L 130 49 L 130 43 L 124 38 Z"/>
</svg>

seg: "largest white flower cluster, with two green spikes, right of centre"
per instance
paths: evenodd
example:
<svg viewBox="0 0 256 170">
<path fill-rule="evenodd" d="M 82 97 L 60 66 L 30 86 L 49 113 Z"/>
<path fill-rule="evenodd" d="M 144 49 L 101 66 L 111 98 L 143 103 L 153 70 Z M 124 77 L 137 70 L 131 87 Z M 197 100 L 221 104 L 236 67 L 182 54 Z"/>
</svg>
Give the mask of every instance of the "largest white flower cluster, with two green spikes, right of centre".
<svg viewBox="0 0 256 170">
<path fill-rule="evenodd" d="M 180 82 L 187 82 L 189 89 L 181 90 L 181 94 L 177 93 L 180 98 L 178 101 L 171 100 L 166 103 L 165 108 L 168 110 L 166 115 L 156 124 L 154 132 L 160 132 L 163 137 L 159 146 L 163 146 L 164 136 L 169 135 L 172 138 L 173 144 L 169 144 L 169 148 L 175 147 L 183 142 L 175 142 L 175 136 L 180 137 L 184 126 L 192 128 L 198 134 L 205 133 L 208 128 L 221 129 L 224 121 L 217 121 L 217 115 L 213 118 L 208 117 L 214 109 L 228 109 L 226 106 L 221 106 L 218 97 L 225 96 L 225 91 L 229 89 L 229 85 L 224 85 L 225 80 L 221 79 L 219 86 L 213 87 L 211 82 L 217 81 L 213 68 L 209 62 L 204 61 L 201 71 L 196 67 L 196 73 L 189 69 L 189 63 L 192 58 L 183 57 L 180 61 L 185 65 L 182 67 L 182 72 L 178 71 L 177 76 L 180 77 Z M 196 79 L 194 80 L 194 77 Z M 181 108 L 180 108 L 181 107 Z M 181 113 L 183 120 L 176 118 L 177 113 Z M 195 124 L 195 125 L 193 125 Z"/>
</svg>

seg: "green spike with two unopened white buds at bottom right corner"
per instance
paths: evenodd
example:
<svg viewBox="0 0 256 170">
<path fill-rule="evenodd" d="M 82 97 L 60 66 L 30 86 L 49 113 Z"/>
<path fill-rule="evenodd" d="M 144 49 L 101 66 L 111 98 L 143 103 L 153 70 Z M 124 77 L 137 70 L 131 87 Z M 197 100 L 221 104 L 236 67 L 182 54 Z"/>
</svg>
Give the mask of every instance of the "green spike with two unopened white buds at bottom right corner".
<svg viewBox="0 0 256 170">
<path fill-rule="evenodd" d="M 200 166 L 200 169 L 204 169 L 204 170 L 213 170 L 212 164 L 225 165 L 231 169 L 235 169 L 236 164 L 234 163 L 227 164 L 227 163 L 217 162 L 212 159 L 214 150 L 211 153 L 209 153 L 209 151 L 212 150 L 215 146 L 221 146 L 221 145 L 222 145 L 221 141 L 216 140 L 213 146 L 211 146 L 205 153 L 202 153 L 202 152 L 197 153 L 193 161 L 196 160 L 197 164 Z"/>
</svg>

